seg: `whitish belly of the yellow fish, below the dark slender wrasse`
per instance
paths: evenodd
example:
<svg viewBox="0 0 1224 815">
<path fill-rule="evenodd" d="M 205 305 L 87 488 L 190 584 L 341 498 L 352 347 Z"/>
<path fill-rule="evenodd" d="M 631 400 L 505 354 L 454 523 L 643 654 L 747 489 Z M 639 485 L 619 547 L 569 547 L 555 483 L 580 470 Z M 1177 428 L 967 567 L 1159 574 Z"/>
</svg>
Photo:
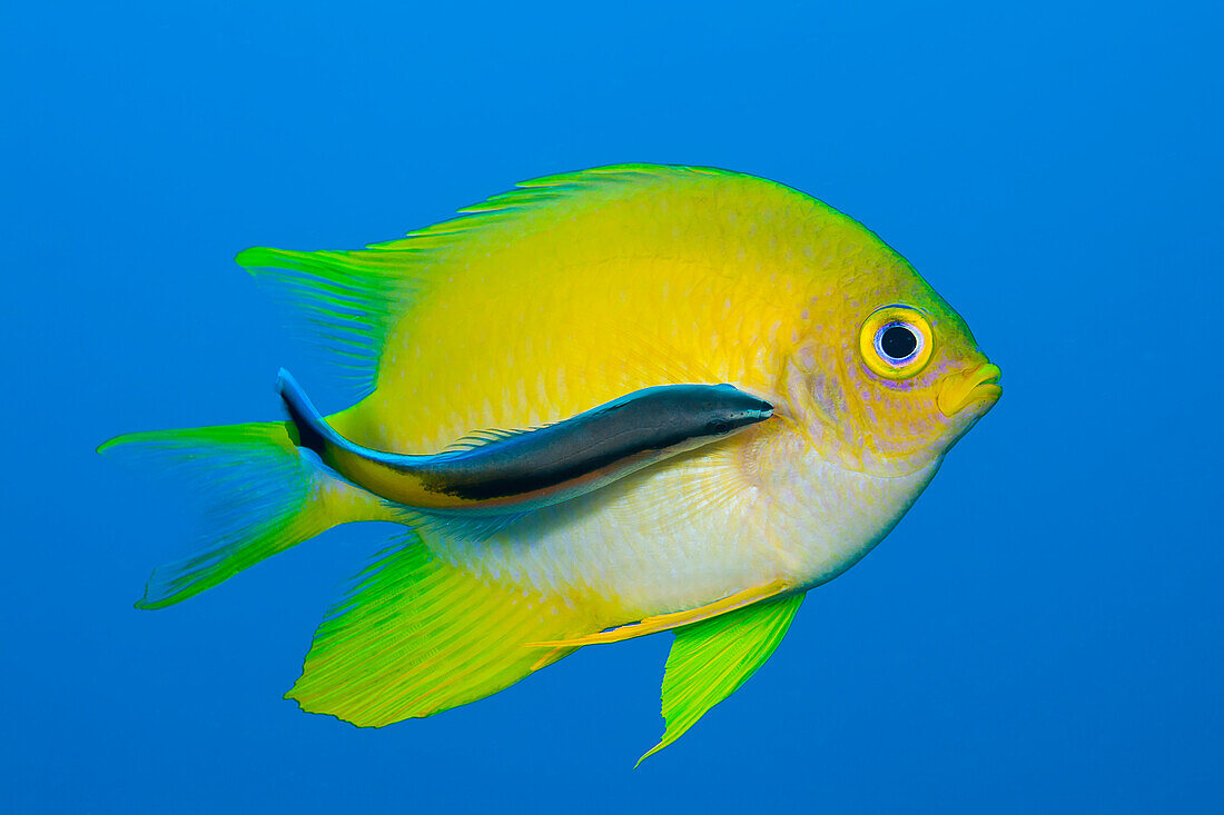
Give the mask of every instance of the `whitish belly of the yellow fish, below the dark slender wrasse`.
<svg viewBox="0 0 1224 815">
<path fill-rule="evenodd" d="M 831 580 L 887 535 L 939 466 L 890 478 L 812 448 L 764 469 L 738 453 L 681 456 L 491 536 L 435 535 L 430 546 L 476 575 L 619 625 L 772 580 Z"/>
</svg>

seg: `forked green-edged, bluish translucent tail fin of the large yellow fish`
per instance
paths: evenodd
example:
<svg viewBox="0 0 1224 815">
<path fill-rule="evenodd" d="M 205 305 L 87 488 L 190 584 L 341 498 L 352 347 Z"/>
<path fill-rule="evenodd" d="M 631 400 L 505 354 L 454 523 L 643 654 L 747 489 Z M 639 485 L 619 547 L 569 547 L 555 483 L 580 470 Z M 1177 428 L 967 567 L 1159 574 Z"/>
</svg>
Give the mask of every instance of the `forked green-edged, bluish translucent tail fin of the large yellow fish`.
<svg viewBox="0 0 1224 815">
<path fill-rule="evenodd" d="M 137 608 L 164 608 L 381 502 L 299 453 L 285 422 L 129 433 L 98 452 L 186 481 L 203 507 L 191 553 L 158 567 Z"/>
</svg>

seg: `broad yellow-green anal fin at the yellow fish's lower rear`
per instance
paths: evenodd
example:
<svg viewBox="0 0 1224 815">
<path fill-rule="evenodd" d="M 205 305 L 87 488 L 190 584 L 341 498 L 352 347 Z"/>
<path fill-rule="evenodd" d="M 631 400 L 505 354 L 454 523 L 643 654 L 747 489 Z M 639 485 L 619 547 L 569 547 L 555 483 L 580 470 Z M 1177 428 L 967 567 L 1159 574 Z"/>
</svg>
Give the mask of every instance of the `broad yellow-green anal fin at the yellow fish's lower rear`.
<svg viewBox="0 0 1224 815">
<path fill-rule="evenodd" d="M 360 574 L 329 612 L 285 696 L 359 727 L 432 716 L 577 650 L 554 649 L 541 660 L 523 647 L 526 641 L 590 628 L 561 601 L 446 563 L 412 534 Z"/>
</svg>

